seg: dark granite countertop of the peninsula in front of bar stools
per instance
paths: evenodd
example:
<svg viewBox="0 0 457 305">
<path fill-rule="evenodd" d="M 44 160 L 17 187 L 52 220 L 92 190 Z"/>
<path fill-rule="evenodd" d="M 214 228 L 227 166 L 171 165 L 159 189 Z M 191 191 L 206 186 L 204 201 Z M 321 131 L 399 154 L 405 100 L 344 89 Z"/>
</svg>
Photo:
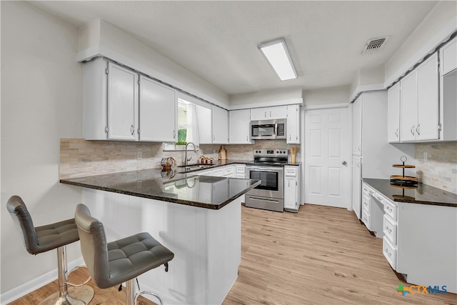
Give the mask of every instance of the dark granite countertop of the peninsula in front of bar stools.
<svg viewBox="0 0 457 305">
<path fill-rule="evenodd" d="M 167 178 L 167 174 L 169 178 Z M 60 182 L 89 189 L 169 201 L 175 204 L 199 206 L 205 209 L 221 209 L 260 184 L 259 180 L 253 179 L 195 174 L 170 175 L 170 172 L 161 172 L 160 169 L 61 179 Z"/>
</svg>

